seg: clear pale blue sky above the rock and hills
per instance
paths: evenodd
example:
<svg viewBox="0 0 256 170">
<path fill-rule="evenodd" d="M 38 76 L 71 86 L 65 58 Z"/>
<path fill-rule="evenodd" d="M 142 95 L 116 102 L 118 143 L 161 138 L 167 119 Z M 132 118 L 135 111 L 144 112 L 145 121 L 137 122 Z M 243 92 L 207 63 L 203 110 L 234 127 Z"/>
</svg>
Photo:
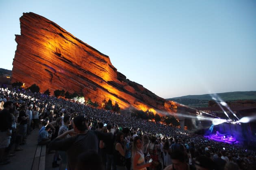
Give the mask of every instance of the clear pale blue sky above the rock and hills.
<svg viewBox="0 0 256 170">
<path fill-rule="evenodd" d="M 0 68 L 33 12 L 108 55 L 162 98 L 256 90 L 254 0 L 0 0 Z"/>
</svg>

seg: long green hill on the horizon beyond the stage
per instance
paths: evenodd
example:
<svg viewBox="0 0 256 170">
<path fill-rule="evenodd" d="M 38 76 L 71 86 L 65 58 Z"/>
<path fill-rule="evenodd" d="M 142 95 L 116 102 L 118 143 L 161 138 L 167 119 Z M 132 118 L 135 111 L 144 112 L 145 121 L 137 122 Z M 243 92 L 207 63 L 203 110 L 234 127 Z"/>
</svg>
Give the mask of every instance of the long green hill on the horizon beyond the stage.
<svg viewBox="0 0 256 170">
<path fill-rule="evenodd" d="M 256 91 L 234 91 L 217 94 L 223 101 L 234 101 L 234 100 L 256 100 Z M 212 100 L 210 94 L 203 95 L 188 95 L 177 98 L 169 98 L 166 100 L 172 100 L 180 104 L 185 104 L 191 107 L 206 107 L 208 101 Z"/>
</svg>

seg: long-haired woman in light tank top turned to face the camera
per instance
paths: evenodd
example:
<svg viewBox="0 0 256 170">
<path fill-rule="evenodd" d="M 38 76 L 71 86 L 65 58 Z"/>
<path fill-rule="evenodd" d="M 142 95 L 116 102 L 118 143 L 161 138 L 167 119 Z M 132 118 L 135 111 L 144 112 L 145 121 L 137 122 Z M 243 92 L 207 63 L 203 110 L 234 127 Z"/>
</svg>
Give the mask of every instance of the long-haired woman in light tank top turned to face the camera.
<svg viewBox="0 0 256 170">
<path fill-rule="evenodd" d="M 144 154 L 142 151 L 142 139 L 140 136 L 136 136 L 133 140 L 132 146 L 132 168 L 133 170 L 147 170 L 146 167 L 150 167 L 151 163 L 145 163 Z"/>
</svg>

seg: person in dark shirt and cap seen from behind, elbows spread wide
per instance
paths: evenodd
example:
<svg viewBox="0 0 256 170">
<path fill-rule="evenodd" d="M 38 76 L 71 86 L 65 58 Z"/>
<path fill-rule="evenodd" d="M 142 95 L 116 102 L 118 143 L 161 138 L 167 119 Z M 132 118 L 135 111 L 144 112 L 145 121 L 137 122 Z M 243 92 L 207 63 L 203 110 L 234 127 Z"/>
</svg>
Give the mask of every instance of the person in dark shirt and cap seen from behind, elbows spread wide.
<svg viewBox="0 0 256 170">
<path fill-rule="evenodd" d="M 112 135 L 97 131 L 88 131 L 84 116 L 76 116 L 73 119 L 73 128 L 50 142 L 50 148 L 67 152 L 67 169 L 73 170 L 78 163 L 78 155 L 85 151 L 93 150 L 98 153 L 99 140 L 111 140 Z M 65 138 L 67 135 L 74 135 Z M 63 139 L 65 138 L 65 139 Z"/>
</svg>

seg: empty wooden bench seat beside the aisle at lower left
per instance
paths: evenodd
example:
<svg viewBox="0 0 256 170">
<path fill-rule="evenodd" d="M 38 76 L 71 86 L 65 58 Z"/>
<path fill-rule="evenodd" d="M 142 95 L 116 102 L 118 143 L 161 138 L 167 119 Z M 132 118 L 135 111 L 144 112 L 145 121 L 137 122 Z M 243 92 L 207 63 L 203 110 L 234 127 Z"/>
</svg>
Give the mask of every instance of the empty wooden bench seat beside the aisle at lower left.
<svg viewBox="0 0 256 170">
<path fill-rule="evenodd" d="M 37 145 L 32 170 L 45 170 L 46 145 Z"/>
</svg>

